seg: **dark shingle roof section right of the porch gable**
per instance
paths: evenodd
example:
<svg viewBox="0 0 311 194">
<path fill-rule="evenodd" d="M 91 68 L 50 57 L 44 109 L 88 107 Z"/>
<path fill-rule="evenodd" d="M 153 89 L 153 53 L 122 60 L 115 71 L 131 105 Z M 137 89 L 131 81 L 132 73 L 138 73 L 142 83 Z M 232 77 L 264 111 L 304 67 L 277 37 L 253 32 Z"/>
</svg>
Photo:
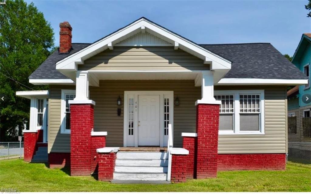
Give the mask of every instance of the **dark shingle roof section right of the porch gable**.
<svg viewBox="0 0 311 194">
<path fill-rule="evenodd" d="M 203 44 L 232 61 L 224 78 L 307 79 L 270 43 Z"/>
</svg>

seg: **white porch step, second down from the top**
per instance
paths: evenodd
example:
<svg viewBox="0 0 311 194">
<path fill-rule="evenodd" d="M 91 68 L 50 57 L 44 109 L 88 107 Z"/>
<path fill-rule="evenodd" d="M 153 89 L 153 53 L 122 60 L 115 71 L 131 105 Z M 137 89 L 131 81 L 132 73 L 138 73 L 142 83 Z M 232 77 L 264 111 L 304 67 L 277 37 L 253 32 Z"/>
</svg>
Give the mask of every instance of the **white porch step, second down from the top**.
<svg viewBox="0 0 311 194">
<path fill-rule="evenodd" d="M 117 159 L 116 166 L 167 166 L 168 160 L 126 160 Z"/>
</svg>

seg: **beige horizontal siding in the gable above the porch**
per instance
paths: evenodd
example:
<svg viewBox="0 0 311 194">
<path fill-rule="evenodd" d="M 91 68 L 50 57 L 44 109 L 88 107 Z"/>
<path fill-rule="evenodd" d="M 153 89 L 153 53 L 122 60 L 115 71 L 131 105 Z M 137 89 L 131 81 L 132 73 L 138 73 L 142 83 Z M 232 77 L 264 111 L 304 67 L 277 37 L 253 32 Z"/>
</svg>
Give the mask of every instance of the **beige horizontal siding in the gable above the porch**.
<svg viewBox="0 0 311 194">
<path fill-rule="evenodd" d="M 209 70 L 209 65 L 174 47 L 114 47 L 78 66 L 79 70 Z"/>
</svg>

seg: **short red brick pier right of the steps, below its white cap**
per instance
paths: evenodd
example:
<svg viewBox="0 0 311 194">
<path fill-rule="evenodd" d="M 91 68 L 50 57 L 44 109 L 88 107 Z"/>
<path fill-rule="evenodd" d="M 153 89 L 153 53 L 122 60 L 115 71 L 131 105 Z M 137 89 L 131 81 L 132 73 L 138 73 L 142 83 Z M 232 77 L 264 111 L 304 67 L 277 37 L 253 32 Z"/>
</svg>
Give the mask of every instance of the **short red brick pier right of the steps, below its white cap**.
<svg viewBox="0 0 311 194">
<path fill-rule="evenodd" d="M 172 155 L 171 182 L 186 182 L 187 155 Z"/>
</svg>

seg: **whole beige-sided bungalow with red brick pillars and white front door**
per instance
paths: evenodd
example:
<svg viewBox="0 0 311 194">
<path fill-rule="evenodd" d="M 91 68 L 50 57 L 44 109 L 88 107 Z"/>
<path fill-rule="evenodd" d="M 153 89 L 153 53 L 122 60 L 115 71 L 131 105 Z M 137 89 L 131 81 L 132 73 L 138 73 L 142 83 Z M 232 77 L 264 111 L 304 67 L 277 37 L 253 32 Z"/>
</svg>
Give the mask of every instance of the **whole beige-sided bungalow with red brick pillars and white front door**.
<svg viewBox="0 0 311 194">
<path fill-rule="evenodd" d="M 270 43 L 197 44 L 144 17 L 94 43 L 59 34 L 29 77 L 49 90 L 16 92 L 25 161 L 115 183 L 285 169 L 286 87 L 308 79 Z"/>
</svg>

